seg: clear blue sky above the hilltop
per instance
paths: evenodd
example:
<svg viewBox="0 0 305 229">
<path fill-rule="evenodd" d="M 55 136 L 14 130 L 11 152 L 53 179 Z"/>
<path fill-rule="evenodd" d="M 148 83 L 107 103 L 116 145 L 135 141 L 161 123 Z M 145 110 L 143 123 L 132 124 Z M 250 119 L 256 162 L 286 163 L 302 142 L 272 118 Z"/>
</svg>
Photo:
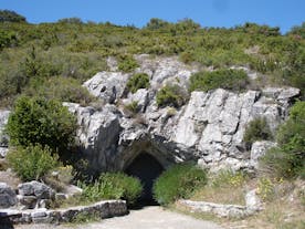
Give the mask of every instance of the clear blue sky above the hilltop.
<svg viewBox="0 0 305 229">
<path fill-rule="evenodd" d="M 305 21 L 305 0 L 0 0 L 0 9 L 17 11 L 31 23 L 77 17 L 143 27 L 151 18 L 190 18 L 202 27 L 255 22 L 286 32 Z"/>
</svg>

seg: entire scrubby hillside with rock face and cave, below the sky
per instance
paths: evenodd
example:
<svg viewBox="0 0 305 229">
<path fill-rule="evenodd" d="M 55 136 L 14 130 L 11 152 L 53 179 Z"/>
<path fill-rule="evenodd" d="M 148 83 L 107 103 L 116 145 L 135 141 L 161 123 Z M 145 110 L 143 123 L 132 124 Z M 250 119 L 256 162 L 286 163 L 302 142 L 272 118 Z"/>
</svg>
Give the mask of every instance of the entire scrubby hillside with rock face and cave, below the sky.
<svg viewBox="0 0 305 229">
<path fill-rule="evenodd" d="M 0 207 L 67 222 L 154 202 L 224 228 L 304 228 L 304 67 L 305 22 L 281 34 L 0 11 Z"/>
</svg>

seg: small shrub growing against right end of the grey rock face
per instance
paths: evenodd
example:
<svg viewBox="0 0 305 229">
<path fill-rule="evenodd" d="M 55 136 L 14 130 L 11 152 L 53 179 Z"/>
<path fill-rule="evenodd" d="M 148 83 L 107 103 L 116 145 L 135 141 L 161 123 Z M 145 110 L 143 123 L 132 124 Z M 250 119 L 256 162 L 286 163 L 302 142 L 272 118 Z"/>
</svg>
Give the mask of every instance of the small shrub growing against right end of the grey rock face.
<svg viewBox="0 0 305 229">
<path fill-rule="evenodd" d="M 245 128 L 243 142 L 248 149 L 256 140 L 271 140 L 273 139 L 267 121 L 265 117 L 259 117 L 249 123 Z"/>
</svg>

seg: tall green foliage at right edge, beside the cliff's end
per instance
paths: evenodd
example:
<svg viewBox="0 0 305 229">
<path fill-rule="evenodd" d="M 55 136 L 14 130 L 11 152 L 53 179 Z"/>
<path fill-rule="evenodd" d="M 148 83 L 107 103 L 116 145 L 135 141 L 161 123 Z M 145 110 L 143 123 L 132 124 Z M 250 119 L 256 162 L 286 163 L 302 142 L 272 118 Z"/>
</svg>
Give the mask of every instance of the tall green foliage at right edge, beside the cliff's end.
<svg viewBox="0 0 305 229">
<path fill-rule="evenodd" d="M 277 177 L 305 178 L 305 102 L 296 102 L 291 116 L 277 132 L 277 147 L 266 152 L 263 168 Z"/>
</svg>

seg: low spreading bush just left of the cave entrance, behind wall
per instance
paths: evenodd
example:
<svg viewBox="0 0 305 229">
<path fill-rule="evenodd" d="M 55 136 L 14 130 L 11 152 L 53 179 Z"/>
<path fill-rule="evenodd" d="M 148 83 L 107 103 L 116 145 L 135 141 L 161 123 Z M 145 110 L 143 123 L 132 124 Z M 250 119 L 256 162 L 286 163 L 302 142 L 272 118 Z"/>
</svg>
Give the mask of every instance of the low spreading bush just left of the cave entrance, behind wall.
<svg viewBox="0 0 305 229">
<path fill-rule="evenodd" d="M 137 178 L 122 173 L 105 173 L 93 185 L 83 185 L 83 197 L 90 201 L 124 199 L 133 206 L 140 197 L 143 186 Z"/>
</svg>

